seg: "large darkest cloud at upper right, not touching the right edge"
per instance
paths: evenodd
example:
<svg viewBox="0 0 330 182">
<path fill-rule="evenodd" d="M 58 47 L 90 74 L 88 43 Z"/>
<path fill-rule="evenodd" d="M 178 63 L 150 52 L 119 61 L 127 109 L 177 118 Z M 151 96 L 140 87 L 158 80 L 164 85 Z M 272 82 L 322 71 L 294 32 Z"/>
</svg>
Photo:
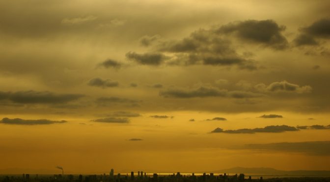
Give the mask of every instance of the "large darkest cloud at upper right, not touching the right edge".
<svg viewBox="0 0 330 182">
<path fill-rule="evenodd" d="M 281 34 L 284 30 L 284 26 L 279 26 L 273 20 L 247 20 L 223 25 L 218 29 L 218 33 L 234 33 L 247 42 L 284 49 L 288 45 L 286 38 Z"/>
</svg>

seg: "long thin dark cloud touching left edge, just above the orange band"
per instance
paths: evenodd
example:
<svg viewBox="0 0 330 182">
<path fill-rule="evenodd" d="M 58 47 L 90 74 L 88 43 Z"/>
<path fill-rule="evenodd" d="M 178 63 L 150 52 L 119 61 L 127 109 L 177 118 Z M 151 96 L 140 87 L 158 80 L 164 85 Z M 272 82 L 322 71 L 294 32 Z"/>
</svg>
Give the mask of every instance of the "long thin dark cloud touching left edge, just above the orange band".
<svg viewBox="0 0 330 182">
<path fill-rule="evenodd" d="M 53 121 L 48 119 L 21 119 L 21 118 L 14 118 L 10 119 L 4 117 L 1 119 L 0 123 L 3 124 L 12 124 L 12 125 L 47 125 L 47 124 L 57 124 L 57 123 L 66 123 L 67 121 Z"/>
</svg>

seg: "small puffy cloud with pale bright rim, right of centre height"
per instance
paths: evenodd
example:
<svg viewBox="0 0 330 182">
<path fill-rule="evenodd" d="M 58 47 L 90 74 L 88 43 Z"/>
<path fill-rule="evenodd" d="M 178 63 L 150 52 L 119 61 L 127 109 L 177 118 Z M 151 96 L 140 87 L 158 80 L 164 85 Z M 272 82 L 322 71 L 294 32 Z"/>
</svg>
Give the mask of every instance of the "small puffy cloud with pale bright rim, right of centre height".
<svg viewBox="0 0 330 182">
<path fill-rule="evenodd" d="M 289 83 L 287 81 L 273 82 L 269 86 L 265 84 L 257 84 L 255 88 L 259 91 L 268 92 L 295 92 L 295 93 L 309 93 L 312 87 L 309 85 L 300 87 L 299 85 Z"/>
</svg>

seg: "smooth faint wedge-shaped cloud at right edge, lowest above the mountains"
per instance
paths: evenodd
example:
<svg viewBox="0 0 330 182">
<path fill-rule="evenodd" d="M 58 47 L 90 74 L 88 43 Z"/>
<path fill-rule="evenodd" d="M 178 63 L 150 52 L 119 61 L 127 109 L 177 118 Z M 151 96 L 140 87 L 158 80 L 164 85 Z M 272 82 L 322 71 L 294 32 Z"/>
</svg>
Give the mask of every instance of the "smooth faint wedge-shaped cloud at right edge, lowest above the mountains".
<svg viewBox="0 0 330 182">
<path fill-rule="evenodd" d="M 330 141 L 282 142 L 266 144 L 247 144 L 243 148 L 278 152 L 295 152 L 307 155 L 329 156 Z"/>
</svg>

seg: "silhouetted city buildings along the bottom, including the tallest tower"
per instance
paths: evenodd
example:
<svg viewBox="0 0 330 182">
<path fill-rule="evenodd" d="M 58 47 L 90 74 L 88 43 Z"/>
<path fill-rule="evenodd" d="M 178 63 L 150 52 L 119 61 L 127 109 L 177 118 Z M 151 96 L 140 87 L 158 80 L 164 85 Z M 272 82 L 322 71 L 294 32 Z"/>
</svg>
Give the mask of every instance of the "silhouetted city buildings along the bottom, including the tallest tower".
<svg viewBox="0 0 330 182">
<path fill-rule="evenodd" d="M 258 181 L 262 180 L 259 179 Z M 226 173 L 215 175 L 214 173 L 192 174 L 149 174 L 143 171 L 131 174 L 110 174 L 103 175 L 29 175 L 23 176 L 2 176 L 0 182 L 243 182 L 252 181 L 251 177 L 245 178 L 244 174 L 227 175 Z"/>
</svg>

